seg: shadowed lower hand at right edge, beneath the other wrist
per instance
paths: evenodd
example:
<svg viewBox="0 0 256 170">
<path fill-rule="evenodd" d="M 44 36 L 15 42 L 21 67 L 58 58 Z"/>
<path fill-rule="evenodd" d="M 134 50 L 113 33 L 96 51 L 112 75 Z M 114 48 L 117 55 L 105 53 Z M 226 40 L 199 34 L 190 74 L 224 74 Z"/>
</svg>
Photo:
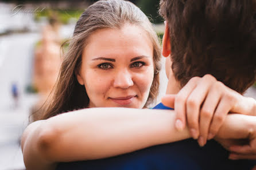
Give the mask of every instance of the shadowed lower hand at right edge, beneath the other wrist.
<svg viewBox="0 0 256 170">
<path fill-rule="evenodd" d="M 215 140 L 231 152 L 232 160 L 256 159 L 256 117 L 228 114 Z"/>
</svg>

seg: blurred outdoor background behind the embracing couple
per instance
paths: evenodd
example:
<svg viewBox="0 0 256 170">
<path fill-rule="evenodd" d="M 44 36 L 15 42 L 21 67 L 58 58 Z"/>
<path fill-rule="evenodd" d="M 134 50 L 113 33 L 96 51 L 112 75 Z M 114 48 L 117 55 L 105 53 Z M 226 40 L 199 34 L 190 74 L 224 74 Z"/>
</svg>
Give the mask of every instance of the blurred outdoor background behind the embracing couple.
<svg viewBox="0 0 256 170">
<path fill-rule="evenodd" d="M 0 170 L 25 169 L 22 132 L 40 112 L 55 84 L 60 46 L 72 36 L 80 14 L 95 1 L 0 1 Z M 162 38 L 159 0 L 134 0 Z M 67 46 L 64 46 L 64 50 Z M 164 58 L 162 59 L 164 66 Z M 164 68 L 161 89 L 166 89 Z M 160 90 L 160 96 L 165 90 Z M 254 88 L 246 96 L 255 97 Z M 32 114 L 34 113 L 34 114 Z"/>
</svg>

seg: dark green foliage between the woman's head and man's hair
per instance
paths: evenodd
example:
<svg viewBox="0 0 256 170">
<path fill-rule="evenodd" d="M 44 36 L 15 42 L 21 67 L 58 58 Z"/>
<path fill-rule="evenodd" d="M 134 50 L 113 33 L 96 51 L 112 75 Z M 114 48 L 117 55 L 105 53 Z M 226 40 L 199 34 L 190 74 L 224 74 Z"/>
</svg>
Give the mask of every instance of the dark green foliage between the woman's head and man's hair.
<svg viewBox="0 0 256 170">
<path fill-rule="evenodd" d="M 162 17 L 158 14 L 160 0 L 139 0 L 137 6 L 141 8 L 149 18 L 152 18 L 153 23 L 161 23 Z"/>
</svg>

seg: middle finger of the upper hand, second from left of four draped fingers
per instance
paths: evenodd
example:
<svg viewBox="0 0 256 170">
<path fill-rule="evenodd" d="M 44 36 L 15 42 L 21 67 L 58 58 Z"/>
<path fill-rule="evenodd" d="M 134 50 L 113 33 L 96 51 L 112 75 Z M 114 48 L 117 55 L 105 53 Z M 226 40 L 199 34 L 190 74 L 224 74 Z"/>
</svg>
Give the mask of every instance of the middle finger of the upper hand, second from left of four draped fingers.
<svg viewBox="0 0 256 170">
<path fill-rule="evenodd" d="M 187 121 L 191 135 L 194 139 L 197 139 L 199 136 L 199 110 L 214 81 L 216 81 L 214 77 L 205 75 L 188 97 L 186 103 Z M 202 141 L 202 139 L 200 139 L 200 141 Z"/>
</svg>

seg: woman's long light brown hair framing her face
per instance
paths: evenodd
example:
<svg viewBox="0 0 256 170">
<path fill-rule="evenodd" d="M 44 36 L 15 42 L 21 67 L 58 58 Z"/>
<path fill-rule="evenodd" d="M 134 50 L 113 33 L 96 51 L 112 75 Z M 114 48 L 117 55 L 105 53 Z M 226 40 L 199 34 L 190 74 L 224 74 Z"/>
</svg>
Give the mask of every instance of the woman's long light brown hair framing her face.
<svg viewBox="0 0 256 170">
<path fill-rule="evenodd" d="M 82 62 L 82 51 L 87 38 L 98 29 L 121 28 L 125 23 L 142 27 L 153 44 L 154 79 L 146 105 L 152 103 L 158 94 L 161 48 L 156 32 L 148 17 L 129 1 L 98 1 L 89 6 L 76 23 L 69 49 L 63 58 L 58 80 L 49 97 L 46 109 L 40 119 L 46 119 L 70 110 L 86 108 L 90 99 L 84 86 L 76 79 L 77 69 Z"/>
</svg>

